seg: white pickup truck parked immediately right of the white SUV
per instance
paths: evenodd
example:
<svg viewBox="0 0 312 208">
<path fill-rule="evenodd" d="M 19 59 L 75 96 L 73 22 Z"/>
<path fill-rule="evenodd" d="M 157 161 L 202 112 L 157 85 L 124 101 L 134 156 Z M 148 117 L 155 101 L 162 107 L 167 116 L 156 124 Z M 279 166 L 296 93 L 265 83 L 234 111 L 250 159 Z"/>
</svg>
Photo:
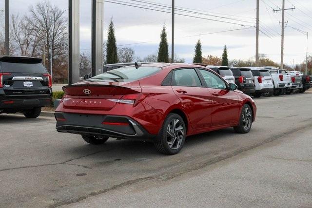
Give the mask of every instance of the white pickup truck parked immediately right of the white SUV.
<svg viewBox="0 0 312 208">
<path fill-rule="evenodd" d="M 266 68 L 266 67 L 265 67 Z M 269 70 L 274 84 L 273 95 L 282 95 L 292 85 L 291 75 L 283 69 L 271 69 Z"/>
</svg>

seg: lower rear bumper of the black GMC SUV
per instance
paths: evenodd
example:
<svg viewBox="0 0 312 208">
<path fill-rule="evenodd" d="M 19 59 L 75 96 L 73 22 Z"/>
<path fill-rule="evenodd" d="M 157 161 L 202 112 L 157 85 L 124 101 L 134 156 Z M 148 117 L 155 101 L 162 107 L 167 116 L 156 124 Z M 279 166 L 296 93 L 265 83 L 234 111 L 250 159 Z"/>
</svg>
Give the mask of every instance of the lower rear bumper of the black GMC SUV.
<svg viewBox="0 0 312 208">
<path fill-rule="evenodd" d="M 39 98 L 39 99 L 7 99 L 7 98 L 0 101 L 0 109 L 25 110 L 32 109 L 34 107 L 44 107 L 51 105 L 51 98 Z"/>
</svg>

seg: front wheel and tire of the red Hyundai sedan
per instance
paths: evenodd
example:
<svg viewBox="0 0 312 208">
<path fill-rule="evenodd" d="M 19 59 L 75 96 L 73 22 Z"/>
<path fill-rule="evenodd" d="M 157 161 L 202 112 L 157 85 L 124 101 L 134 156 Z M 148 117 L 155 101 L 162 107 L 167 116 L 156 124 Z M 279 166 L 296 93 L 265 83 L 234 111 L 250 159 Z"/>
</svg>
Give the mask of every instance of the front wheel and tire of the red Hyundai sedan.
<svg viewBox="0 0 312 208">
<path fill-rule="evenodd" d="M 239 124 L 234 127 L 236 133 L 248 133 L 253 124 L 253 111 L 251 107 L 245 104 L 241 110 Z"/>
</svg>

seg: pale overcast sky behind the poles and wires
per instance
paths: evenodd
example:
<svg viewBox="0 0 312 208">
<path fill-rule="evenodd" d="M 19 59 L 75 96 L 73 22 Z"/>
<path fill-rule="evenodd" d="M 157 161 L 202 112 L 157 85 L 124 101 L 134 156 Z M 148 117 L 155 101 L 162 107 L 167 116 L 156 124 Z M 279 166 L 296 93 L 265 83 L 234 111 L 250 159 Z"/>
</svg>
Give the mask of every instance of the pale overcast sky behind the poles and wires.
<svg viewBox="0 0 312 208">
<path fill-rule="evenodd" d="M 26 14 L 31 4 L 41 0 L 10 0 L 10 13 Z M 117 2 L 117 0 L 112 0 Z M 143 4 L 133 0 L 119 0 L 128 4 Z M 144 0 L 146 1 L 146 0 Z M 171 0 L 148 0 L 156 4 L 171 4 Z M 68 8 L 67 0 L 51 0 L 61 10 Z M 260 43 L 259 53 L 266 54 L 276 62 L 280 62 L 281 45 L 281 12 L 273 13 L 277 6 L 281 7 L 282 0 L 260 0 Z M 151 4 L 145 4 L 152 8 Z M 312 34 L 312 3 L 311 0 L 286 0 L 285 7 L 296 7 L 286 12 L 287 25 L 307 31 Z M 159 7 L 154 5 L 155 7 Z M 194 46 L 199 38 L 203 45 L 203 55 L 221 57 L 224 44 L 228 47 L 229 59 L 248 59 L 255 54 L 255 8 L 256 0 L 176 0 L 176 7 L 185 7 L 189 10 L 201 10 L 200 13 L 222 16 L 231 19 L 212 17 L 207 15 L 183 13 L 179 14 L 197 16 L 208 19 L 223 20 L 243 24 L 245 26 L 222 23 L 207 19 L 198 19 L 176 15 L 175 23 L 175 52 L 186 62 L 192 62 Z M 4 0 L 0 0 L 0 10 L 4 8 Z M 166 8 L 166 7 L 163 7 Z M 170 10 L 168 10 L 170 11 Z M 1 13 L 3 20 L 3 12 Z M 157 52 L 162 25 L 166 25 L 168 42 L 171 48 L 171 14 L 159 11 L 135 8 L 110 2 L 104 2 L 104 40 L 107 36 L 109 20 L 113 18 L 117 45 L 129 45 L 136 51 L 136 56 L 145 57 Z M 237 19 L 237 20 L 233 20 Z M 250 26 L 248 26 L 250 25 Z M 220 31 L 236 30 L 231 32 L 208 34 Z M 265 33 L 265 34 L 264 34 Z M 269 36 L 269 37 L 268 37 Z M 312 52 L 312 38 L 309 46 Z M 80 51 L 89 53 L 91 45 L 91 0 L 80 0 Z M 292 66 L 305 59 L 307 46 L 306 36 L 292 29 L 285 29 L 284 63 Z M 310 54 L 311 55 L 311 54 Z"/>
</svg>

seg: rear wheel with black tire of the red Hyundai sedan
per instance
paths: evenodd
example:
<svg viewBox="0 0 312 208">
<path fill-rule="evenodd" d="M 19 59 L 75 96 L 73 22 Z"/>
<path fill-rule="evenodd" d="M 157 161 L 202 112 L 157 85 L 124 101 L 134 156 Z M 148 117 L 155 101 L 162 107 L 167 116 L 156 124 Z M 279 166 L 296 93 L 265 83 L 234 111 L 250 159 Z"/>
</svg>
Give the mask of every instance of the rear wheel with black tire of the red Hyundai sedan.
<svg viewBox="0 0 312 208">
<path fill-rule="evenodd" d="M 154 144 L 163 154 L 176 154 L 182 149 L 185 137 L 186 127 L 183 118 L 176 113 L 170 113 L 158 134 L 158 142 Z"/>
</svg>

